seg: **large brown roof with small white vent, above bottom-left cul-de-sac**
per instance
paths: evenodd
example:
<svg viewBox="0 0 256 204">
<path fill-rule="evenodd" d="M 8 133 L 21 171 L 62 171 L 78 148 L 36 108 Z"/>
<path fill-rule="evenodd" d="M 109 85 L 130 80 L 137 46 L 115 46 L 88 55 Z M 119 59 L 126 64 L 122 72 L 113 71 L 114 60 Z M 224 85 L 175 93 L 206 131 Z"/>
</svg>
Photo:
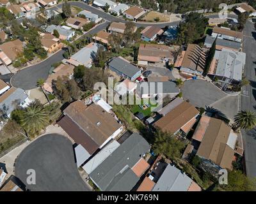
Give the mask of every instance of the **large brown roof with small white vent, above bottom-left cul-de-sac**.
<svg viewBox="0 0 256 204">
<path fill-rule="evenodd" d="M 64 110 L 64 113 L 99 146 L 122 127 L 110 113 L 95 103 L 86 106 L 82 101 L 75 101 Z"/>
</svg>

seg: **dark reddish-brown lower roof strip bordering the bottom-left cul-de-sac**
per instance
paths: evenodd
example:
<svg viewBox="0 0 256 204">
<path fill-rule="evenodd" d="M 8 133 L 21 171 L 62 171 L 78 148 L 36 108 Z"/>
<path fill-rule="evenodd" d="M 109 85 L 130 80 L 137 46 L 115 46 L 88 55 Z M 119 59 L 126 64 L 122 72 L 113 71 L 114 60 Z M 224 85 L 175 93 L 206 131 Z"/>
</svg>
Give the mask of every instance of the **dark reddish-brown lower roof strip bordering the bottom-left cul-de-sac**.
<svg viewBox="0 0 256 204">
<path fill-rule="evenodd" d="M 81 144 L 90 155 L 92 155 L 99 145 L 95 143 L 90 136 L 88 136 L 70 117 L 65 115 L 61 120 L 57 122 L 61 128 L 63 128 L 68 135 L 77 143 Z"/>
</svg>

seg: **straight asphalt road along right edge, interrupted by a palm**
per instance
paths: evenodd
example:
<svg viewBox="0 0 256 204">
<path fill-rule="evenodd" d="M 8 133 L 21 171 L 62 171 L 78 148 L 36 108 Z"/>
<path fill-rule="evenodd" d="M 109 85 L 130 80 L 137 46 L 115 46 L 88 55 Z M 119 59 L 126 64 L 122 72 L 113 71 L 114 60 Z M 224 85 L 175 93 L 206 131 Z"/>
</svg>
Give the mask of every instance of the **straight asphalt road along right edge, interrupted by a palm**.
<svg viewBox="0 0 256 204">
<path fill-rule="evenodd" d="M 253 37 L 254 36 L 254 37 Z M 246 22 L 244 27 L 243 52 L 246 52 L 244 75 L 251 84 L 243 88 L 241 95 L 241 110 L 255 112 L 256 107 L 256 31 L 251 22 Z M 246 174 L 256 177 L 256 131 L 242 131 L 244 144 L 244 159 Z"/>
</svg>

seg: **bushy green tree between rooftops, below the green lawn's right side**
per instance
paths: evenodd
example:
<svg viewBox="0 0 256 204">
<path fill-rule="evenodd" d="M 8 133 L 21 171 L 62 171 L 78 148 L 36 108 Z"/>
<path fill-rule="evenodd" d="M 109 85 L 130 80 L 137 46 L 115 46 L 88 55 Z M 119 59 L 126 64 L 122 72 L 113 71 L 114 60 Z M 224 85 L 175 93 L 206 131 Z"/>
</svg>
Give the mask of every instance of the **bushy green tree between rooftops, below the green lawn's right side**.
<svg viewBox="0 0 256 204">
<path fill-rule="evenodd" d="M 184 149 L 185 143 L 175 138 L 170 133 L 163 133 L 159 129 L 156 131 L 156 139 L 152 145 L 152 149 L 156 154 L 163 154 L 170 159 L 177 159 Z"/>
</svg>

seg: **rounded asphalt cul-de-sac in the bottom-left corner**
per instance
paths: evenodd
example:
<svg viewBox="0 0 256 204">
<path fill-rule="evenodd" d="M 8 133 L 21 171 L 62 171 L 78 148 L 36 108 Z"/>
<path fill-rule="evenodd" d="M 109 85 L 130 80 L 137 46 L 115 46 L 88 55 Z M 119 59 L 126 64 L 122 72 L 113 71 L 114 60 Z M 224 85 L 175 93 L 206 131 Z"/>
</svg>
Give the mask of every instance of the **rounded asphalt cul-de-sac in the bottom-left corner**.
<svg viewBox="0 0 256 204">
<path fill-rule="evenodd" d="M 35 170 L 35 185 L 26 182 L 29 169 Z M 28 145 L 17 157 L 15 176 L 31 191 L 90 191 L 77 170 L 72 142 L 58 134 Z"/>
</svg>

